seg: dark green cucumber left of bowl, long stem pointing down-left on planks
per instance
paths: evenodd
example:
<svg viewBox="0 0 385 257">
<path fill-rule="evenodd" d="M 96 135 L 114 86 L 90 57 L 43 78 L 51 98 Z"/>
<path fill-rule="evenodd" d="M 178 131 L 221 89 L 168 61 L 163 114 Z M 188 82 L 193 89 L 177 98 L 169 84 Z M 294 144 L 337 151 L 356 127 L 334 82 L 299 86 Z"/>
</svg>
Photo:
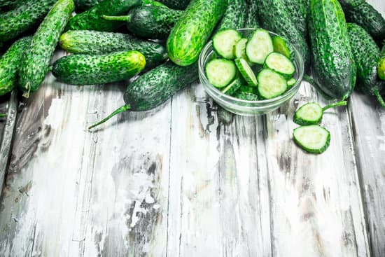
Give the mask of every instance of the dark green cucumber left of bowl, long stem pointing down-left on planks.
<svg viewBox="0 0 385 257">
<path fill-rule="evenodd" d="M 189 67 L 180 67 L 172 62 L 166 62 L 139 76 L 136 81 L 128 85 L 124 95 L 125 105 L 89 129 L 105 123 L 123 111 L 151 110 L 197 79 L 197 63 Z"/>
</svg>

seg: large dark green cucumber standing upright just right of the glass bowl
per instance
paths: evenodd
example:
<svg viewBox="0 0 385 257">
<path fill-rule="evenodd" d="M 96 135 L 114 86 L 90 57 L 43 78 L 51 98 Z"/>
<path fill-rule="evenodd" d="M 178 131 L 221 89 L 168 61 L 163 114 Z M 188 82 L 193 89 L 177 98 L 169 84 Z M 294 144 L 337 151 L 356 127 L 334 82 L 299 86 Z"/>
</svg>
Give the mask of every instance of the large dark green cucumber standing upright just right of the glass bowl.
<svg viewBox="0 0 385 257">
<path fill-rule="evenodd" d="M 329 97 L 346 99 L 356 84 L 356 64 L 344 12 L 337 0 L 312 0 L 309 35 L 314 80 Z"/>
</svg>

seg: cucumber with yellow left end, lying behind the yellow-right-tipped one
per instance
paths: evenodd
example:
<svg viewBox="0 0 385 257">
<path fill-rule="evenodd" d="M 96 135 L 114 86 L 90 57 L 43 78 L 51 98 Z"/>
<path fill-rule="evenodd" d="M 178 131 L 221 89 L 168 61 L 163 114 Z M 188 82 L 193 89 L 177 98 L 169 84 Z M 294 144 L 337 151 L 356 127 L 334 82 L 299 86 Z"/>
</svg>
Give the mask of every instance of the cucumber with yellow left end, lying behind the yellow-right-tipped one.
<svg viewBox="0 0 385 257">
<path fill-rule="evenodd" d="M 167 59 L 167 50 L 159 43 L 114 32 L 70 30 L 60 36 L 59 45 L 69 53 L 92 55 L 138 50 L 146 57 L 147 67 L 155 67 Z"/>
</svg>

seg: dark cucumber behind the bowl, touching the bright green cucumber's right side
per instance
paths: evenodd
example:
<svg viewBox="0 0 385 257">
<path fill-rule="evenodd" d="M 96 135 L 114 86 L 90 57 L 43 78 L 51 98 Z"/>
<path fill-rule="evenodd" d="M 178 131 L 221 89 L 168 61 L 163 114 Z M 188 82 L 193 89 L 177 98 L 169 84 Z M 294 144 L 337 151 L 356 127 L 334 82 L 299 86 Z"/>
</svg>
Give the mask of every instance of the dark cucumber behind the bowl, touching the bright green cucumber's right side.
<svg viewBox="0 0 385 257">
<path fill-rule="evenodd" d="M 218 25 L 218 31 L 223 29 L 242 29 L 246 22 L 246 1 L 228 0 L 228 8 Z"/>
</svg>

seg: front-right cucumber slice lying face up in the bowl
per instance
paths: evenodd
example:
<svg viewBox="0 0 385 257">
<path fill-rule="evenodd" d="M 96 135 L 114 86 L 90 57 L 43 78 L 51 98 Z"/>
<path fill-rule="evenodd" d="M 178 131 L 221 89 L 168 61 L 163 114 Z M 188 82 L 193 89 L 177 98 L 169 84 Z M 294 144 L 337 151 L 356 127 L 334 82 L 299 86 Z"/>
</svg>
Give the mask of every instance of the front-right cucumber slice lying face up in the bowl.
<svg viewBox="0 0 385 257">
<path fill-rule="evenodd" d="M 271 69 L 262 69 L 258 74 L 258 93 L 265 99 L 282 95 L 288 88 L 286 79 Z"/>
</svg>

